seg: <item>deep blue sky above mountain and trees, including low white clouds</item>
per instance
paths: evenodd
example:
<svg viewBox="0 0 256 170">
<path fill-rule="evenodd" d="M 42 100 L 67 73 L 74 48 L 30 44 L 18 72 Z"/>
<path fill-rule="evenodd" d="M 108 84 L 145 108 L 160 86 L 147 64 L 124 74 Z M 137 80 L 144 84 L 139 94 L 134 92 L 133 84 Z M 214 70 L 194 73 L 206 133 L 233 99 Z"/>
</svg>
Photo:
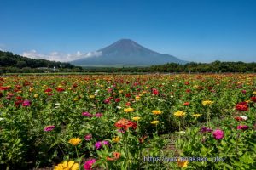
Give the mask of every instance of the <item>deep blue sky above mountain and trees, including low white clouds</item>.
<svg viewBox="0 0 256 170">
<path fill-rule="evenodd" d="M 0 49 L 72 60 L 130 38 L 179 59 L 256 61 L 254 0 L 0 0 Z"/>
</svg>

